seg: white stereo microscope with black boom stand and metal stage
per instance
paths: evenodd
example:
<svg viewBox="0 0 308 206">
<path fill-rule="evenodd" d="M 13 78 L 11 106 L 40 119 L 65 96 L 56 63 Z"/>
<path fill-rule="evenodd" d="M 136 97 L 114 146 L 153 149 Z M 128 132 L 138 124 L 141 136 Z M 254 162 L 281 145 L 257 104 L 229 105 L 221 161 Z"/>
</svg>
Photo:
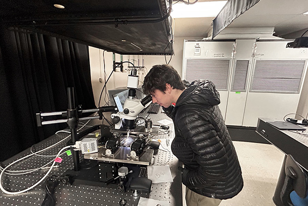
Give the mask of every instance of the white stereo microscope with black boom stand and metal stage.
<svg viewBox="0 0 308 206">
<path fill-rule="evenodd" d="M 138 77 L 133 76 L 132 78 L 136 81 L 135 78 Z M 36 114 L 38 126 L 67 122 L 71 129 L 71 140 L 67 144 L 75 145 L 74 149 L 71 149 L 74 169 L 67 170 L 63 174 L 63 182 L 67 185 L 74 183 L 116 187 L 121 192 L 131 189 L 135 196 L 138 195 L 137 191 L 150 192 L 152 182 L 146 178 L 146 167 L 152 162 L 154 153 L 153 149 L 146 149 L 150 135 L 139 134 L 135 136 L 136 138 L 131 138 L 133 141 L 127 145 L 123 145 L 120 141 L 123 131 L 128 131 L 128 137 L 133 136 L 129 132 L 139 127 L 135 126 L 135 119 L 140 111 L 151 102 L 151 96 L 138 100 L 134 98 L 135 93 L 135 88 L 130 88 L 129 97 L 122 112 L 119 112 L 115 106 L 82 110 L 82 108 L 75 107 L 74 90 L 68 88 L 69 105 L 66 112 Z M 86 112 L 98 112 L 99 115 L 82 117 L 82 113 Z M 77 133 L 78 120 L 102 119 L 103 112 L 117 112 L 112 114 L 114 122 L 118 119 L 116 128 L 121 129 L 122 127 L 124 130 L 122 132 L 121 130 L 112 131 L 109 126 L 95 125 Z M 44 120 L 43 118 L 53 115 L 67 116 L 67 119 Z M 97 130 L 100 130 L 100 138 L 96 136 L 96 133 L 95 138 L 86 137 Z M 83 154 L 82 161 L 79 160 L 79 151 Z"/>
</svg>

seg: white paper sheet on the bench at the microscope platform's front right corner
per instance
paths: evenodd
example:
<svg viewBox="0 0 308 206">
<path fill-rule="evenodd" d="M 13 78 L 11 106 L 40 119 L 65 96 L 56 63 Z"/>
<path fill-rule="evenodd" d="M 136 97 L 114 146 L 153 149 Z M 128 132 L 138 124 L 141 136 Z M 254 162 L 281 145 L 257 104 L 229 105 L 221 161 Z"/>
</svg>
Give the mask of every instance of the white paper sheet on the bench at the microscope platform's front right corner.
<svg viewBox="0 0 308 206">
<path fill-rule="evenodd" d="M 147 178 L 152 183 L 173 182 L 169 165 L 166 166 L 147 166 Z"/>
</svg>

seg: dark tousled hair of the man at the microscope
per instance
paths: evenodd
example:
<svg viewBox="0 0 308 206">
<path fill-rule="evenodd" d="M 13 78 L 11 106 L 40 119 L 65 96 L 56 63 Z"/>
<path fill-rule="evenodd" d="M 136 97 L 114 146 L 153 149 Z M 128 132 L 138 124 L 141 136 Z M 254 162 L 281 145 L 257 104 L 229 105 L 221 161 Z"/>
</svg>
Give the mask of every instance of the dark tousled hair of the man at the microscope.
<svg viewBox="0 0 308 206">
<path fill-rule="evenodd" d="M 165 93 L 166 84 L 170 84 L 173 89 L 185 89 L 180 75 L 172 66 L 166 64 L 155 65 L 144 77 L 142 89 L 146 95 L 152 94 L 155 90 Z"/>
</svg>

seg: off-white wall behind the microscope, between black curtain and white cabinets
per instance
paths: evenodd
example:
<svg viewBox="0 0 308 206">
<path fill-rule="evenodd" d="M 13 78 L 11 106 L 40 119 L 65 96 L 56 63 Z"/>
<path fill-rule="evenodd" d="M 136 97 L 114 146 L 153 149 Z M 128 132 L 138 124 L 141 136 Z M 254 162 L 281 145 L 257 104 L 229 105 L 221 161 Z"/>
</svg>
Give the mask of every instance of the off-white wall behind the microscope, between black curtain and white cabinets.
<svg viewBox="0 0 308 206">
<path fill-rule="evenodd" d="M 172 65 L 182 76 L 182 63 L 183 63 L 183 45 L 184 45 L 184 39 L 202 39 L 202 37 L 175 37 L 174 39 L 174 55 L 172 56 L 172 59 L 170 61 L 170 65 Z M 104 81 L 104 58 L 103 58 L 103 52 L 104 50 L 100 50 L 94 47 L 89 47 L 89 56 L 90 56 L 90 67 L 91 67 L 91 81 L 92 81 L 92 88 L 93 88 L 93 94 L 94 94 L 94 100 L 96 106 L 98 106 L 99 96 L 101 93 L 102 88 L 105 85 Z M 109 77 L 110 73 L 112 72 L 112 64 L 113 64 L 113 58 L 112 53 L 105 51 L 105 65 L 106 65 L 106 79 Z M 144 59 L 144 66 L 146 67 L 147 71 L 156 64 L 166 64 L 165 57 L 164 56 L 154 56 L 154 55 L 126 55 L 123 56 L 123 61 L 132 61 L 132 59 L 135 59 L 134 65 L 138 66 L 137 60 L 139 59 L 139 66 L 142 66 L 142 58 Z M 167 62 L 170 59 L 170 56 L 166 56 Z M 116 61 L 120 61 L 120 55 L 116 55 Z M 127 68 L 128 63 L 123 64 L 124 69 Z M 118 69 L 119 70 L 119 69 Z M 127 86 L 127 75 L 128 72 L 114 72 L 111 76 L 111 78 L 108 81 L 107 84 L 107 90 L 104 90 L 104 93 L 102 94 L 100 104 L 99 106 L 105 105 L 105 91 L 108 91 L 110 89 L 119 88 L 119 87 L 126 87 Z M 140 80 L 143 80 L 143 77 L 146 75 L 146 72 L 142 75 L 142 73 L 139 73 L 139 76 L 142 78 Z M 99 82 L 99 78 L 102 79 L 102 82 Z M 139 83 L 139 85 L 142 85 L 142 83 Z M 108 101 L 108 98 L 106 97 L 106 101 Z"/>
</svg>

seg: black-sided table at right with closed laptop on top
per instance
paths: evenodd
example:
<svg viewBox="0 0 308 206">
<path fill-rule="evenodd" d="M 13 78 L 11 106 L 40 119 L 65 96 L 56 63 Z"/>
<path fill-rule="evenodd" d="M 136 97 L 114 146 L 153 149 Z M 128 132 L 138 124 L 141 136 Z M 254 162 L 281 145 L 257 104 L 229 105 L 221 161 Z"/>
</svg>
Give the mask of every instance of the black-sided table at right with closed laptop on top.
<svg viewBox="0 0 308 206">
<path fill-rule="evenodd" d="M 294 159 L 308 171 L 308 127 L 304 131 L 279 130 L 267 121 L 277 121 L 273 118 L 259 118 L 256 132 L 285 154 L 291 154 Z"/>
</svg>

